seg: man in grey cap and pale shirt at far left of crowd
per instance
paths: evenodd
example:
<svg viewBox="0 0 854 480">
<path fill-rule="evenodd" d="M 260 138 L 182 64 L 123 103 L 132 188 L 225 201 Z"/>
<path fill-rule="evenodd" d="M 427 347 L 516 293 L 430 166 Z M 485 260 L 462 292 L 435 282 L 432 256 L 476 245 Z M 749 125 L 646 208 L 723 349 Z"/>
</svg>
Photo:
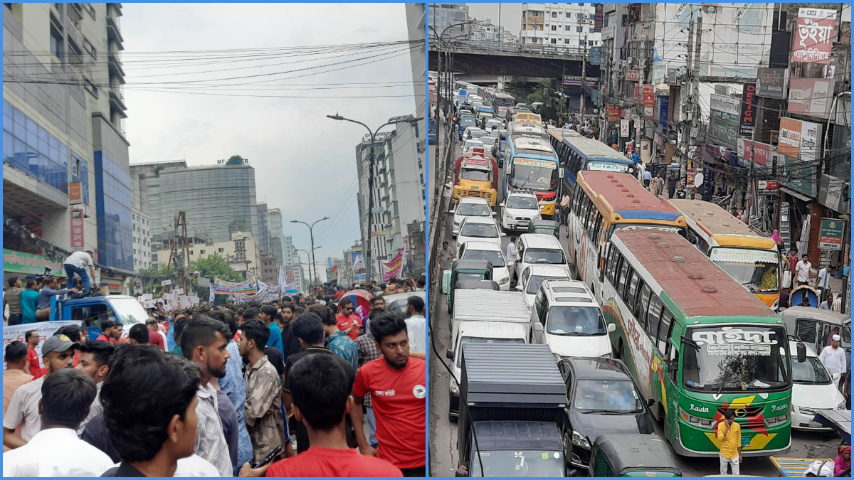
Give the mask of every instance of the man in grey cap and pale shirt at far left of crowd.
<svg viewBox="0 0 854 480">
<path fill-rule="evenodd" d="M 38 403 L 42 399 L 44 379 L 50 377 L 51 372 L 73 368 L 74 350 L 79 347 L 79 343 L 72 342 L 65 335 L 54 335 L 44 341 L 42 359 L 47 372 L 43 377 L 26 383 L 12 395 L 6 416 L 3 417 L 3 445 L 9 448 L 21 447 L 38 433 L 42 418 Z M 20 436 L 15 433 L 19 425 Z"/>
</svg>

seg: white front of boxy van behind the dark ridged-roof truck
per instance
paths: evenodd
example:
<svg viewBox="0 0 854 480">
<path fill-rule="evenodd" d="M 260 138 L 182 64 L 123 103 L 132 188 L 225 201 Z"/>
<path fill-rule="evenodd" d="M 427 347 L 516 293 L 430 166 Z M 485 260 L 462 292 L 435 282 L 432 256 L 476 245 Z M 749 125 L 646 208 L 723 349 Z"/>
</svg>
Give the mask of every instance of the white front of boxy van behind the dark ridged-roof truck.
<svg viewBox="0 0 854 480">
<path fill-rule="evenodd" d="M 519 324 L 499 321 L 473 321 L 459 322 L 454 325 L 451 337 L 451 348 L 448 348 L 445 356 L 450 361 L 453 375 L 448 383 L 448 407 L 447 414 L 451 421 L 459 417 L 459 385 L 454 378 L 459 379 L 462 375 L 460 363 L 463 357 L 463 345 L 465 343 L 527 343 L 525 328 Z"/>
</svg>

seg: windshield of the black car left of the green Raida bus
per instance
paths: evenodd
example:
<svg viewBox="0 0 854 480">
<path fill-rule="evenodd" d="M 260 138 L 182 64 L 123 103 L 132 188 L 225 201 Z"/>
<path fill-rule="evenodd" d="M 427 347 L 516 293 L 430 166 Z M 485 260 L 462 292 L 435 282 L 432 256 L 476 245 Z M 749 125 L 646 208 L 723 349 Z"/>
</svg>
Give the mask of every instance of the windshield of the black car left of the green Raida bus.
<svg viewBox="0 0 854 480">
<path fill-rule="evenodd" d="M 631 380 L 579 380 L 573 407 L 583 413 L 642 412 L 643 404 Z"/>
</svg>

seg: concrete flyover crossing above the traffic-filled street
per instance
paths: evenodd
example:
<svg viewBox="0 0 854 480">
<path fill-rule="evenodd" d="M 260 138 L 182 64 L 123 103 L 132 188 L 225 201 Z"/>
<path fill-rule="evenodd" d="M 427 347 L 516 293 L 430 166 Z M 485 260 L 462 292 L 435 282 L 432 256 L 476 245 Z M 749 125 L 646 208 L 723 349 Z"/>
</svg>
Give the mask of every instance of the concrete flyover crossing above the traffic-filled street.
<svg viewBox="0 0 854 480">
<path fill-rule="evenodd" d="M 564 48 L 557 45 L 524 45 L 515 49 L 495 49 L 480 46 L 455 46 L 451 48 L 454 73 L 476 75 L 512 75 L 559 79 L 561 75 L 582 75 L 582 59 L 588 56 L 588 77 L 599 78 L 599 66 L 590 65 L 589 51 L 582 48 Z M 430 42 L 430 70 L 439 67 L 438 42 Z M 445 65 L 442 65 L 442 70 Z"/>
</svg>

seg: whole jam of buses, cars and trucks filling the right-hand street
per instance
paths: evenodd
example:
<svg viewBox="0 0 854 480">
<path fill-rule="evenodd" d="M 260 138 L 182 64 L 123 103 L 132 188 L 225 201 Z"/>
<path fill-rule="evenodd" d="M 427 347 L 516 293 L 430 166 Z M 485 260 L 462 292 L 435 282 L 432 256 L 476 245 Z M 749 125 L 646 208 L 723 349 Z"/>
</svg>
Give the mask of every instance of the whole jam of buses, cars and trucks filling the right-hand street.
<svg viewBox="0 0 854 480">
<path fill-rule="evenodd" d="M 781 243 L 585 120 L 453 86 L 433 475 L 850 476 L 851 314 L 781 302 Z"/>
</svg>

